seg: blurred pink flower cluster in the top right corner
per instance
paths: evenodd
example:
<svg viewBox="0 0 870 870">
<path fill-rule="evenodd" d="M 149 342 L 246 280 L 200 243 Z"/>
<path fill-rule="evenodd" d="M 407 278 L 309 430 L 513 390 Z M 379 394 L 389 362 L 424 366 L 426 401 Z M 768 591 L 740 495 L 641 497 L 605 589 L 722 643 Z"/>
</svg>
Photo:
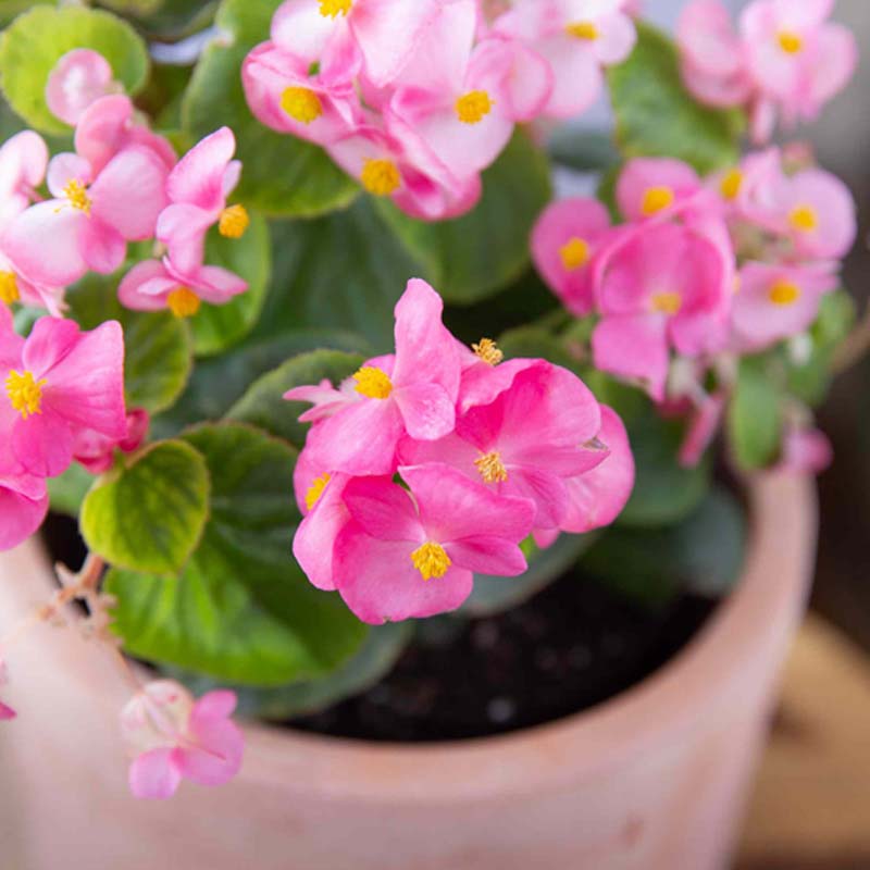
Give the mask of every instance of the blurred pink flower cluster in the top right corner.
<svg viewBox="0 0 870 870">
<path fill-rule="evenodd" d="M 683 79 L 701 102 L 745 107 L 753 138 L 769 141 L 813 120 L 852 77 L 853 34 L 828 22 L 834 0 L 754 0 L 735 32 L 719 0 L 694 0 L 678 25 Z"/>
</svg>

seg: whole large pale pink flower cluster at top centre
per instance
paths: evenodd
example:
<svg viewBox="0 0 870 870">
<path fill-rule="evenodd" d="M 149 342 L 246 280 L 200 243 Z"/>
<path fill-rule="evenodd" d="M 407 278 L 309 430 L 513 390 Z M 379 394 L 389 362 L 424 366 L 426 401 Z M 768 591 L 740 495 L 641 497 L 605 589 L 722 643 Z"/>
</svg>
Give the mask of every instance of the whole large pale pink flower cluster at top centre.
<svg viewBox="0 0 870 870">
<path fill-rule="evenodd" d="M 518 123 L 568 117 L 635 41 L 626 0 L 286 0 L 243 65 L 253 114 L 323 146 L 371 194 L 468 211 Z"/>
</svg>

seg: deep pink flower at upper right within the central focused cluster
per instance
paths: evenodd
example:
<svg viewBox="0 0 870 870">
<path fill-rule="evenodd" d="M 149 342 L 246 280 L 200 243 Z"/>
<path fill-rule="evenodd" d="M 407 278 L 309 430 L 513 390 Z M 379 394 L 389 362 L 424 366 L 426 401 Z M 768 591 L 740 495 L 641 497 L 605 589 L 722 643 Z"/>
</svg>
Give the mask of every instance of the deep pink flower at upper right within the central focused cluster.
<svg viewBox="0 0 870 870">
<path fill-rule="evenodd" d="M 537 360 L 489 405 L 461 414 L 456 432 L 432 442 L 405 438 L 399 457 L 403 464 L 448 464 L 499 495 L 527 498 L 535 527 L 554 529 L 568 513 L 566 478 L 608 455 L 595 440 L 600 428 L 600 407 L 583 382 Z"/>
</svg>

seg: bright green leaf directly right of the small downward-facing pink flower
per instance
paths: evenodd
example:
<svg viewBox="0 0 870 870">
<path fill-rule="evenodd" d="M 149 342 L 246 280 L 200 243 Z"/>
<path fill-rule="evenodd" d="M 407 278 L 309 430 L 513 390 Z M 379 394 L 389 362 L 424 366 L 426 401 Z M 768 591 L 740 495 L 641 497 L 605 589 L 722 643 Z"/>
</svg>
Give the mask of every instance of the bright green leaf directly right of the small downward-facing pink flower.
<svg viewBox="0 0 870 870">
<path fill-rule="evenodd" d="M 240 341 L 256 325 L 265 302 L 272 269 L 269 227 L 259 214 L 241 238 L 225 238 L 211 232 L 206 239 L 206 262 L 235 272 L 248 289 L 223 306 L 202 304 L 190 321 L 194 350 L 199 356 L 220 353 Z"/>
</svg>

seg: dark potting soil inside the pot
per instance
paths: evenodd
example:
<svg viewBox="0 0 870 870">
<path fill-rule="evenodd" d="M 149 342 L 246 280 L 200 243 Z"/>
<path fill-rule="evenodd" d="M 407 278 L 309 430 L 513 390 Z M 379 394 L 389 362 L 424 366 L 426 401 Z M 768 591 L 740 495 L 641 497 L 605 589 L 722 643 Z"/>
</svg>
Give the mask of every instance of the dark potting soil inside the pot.
<svg viewBox="0 0 870 870">
<path fill-rule="evenodd" d="M 51 517 L 53 558 L 76 567 L 75 524 Z M 506 581 L 510 582 L 510 581 Z M 471 621 L 439 617 L 373 688 L 288 724 L 364 741 L 482 737 L 561 719 L 652 674 L 691 641 L 716 601 L 684 594 L 639 606 L 569 575 L 507 612 Z"/>
</svg>

